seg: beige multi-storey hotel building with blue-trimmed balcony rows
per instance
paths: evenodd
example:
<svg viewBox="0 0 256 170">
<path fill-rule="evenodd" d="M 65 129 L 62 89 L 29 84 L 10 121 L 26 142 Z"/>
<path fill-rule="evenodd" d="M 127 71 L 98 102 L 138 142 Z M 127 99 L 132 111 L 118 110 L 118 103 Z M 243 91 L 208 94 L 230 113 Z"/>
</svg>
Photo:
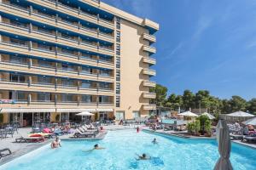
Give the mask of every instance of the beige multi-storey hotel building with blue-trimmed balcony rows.
<svg viewBox="0 0 256 170">
<path fill-rule="evenodd" d="M 0 0 L 2 123 L 148 116 L 158 30 L 98 0 Z"/>
</svg>

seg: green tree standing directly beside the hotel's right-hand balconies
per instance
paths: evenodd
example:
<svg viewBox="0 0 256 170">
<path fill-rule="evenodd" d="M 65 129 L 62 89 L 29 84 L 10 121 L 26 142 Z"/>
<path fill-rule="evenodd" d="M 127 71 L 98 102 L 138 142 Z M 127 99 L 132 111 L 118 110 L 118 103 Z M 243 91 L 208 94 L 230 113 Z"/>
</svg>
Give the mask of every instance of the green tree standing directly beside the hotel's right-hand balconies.
<svg viewBox="0 0 256 170">
<path fill-rule="evenodd" d="M 168 89 L 164 86 L 161 86 L 160 84 L 156 84 L 155 88 L 152 88 L 150 91 L 156 94 L 156 98 L 153 99 L 153 102 L 157 106 L 164 106 L 166 103 L 166 95 Z"/>
</svg>

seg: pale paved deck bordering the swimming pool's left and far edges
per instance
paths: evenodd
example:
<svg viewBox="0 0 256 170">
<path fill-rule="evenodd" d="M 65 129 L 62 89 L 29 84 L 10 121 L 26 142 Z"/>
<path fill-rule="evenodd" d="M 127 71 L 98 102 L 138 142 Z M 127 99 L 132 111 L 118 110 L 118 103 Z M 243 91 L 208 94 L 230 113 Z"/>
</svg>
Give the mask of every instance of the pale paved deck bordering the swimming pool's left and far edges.
<svg viewBox="0 0 256 170">
<path fill-rule="evenodd" d="M 162 134 L 167 134 L 167 135 L 172 135 L 172 136 L 177 136 L 181 138 L 189 138 L 189 139 L 215 139 L 215 137 L 208 138 L 208 137 L 195 137 L 195 136 L 189 136 L 186 131 L 164 131 L 164 130 L 157 130 L 153 131 L 152 129 L 149 129 L 149 127 L 141 126 L 141 125 L 131 125 L 131 126 L 121 126 L 121 125 L 111 125 L 111 126 L 103 126 L 103 132 L 99 133 L 96 138 L 90 138 L 90 139 L 85 139 L 85 140 L 95 140 L 95 139 L 104 139 L 108 131 L 113 131 L 113 130 L 125 130 L 125 129 L 135 129 L 136 127 L 140 127 L 141 129 L 151 132 L 151 133 L 162 133 Z M 10 156 L 5 156 L 3 159 L 0 160 L 0 166 L 3 165 L 4 163 L 8 161 L 12 161 L 13 159 L 23 156 L 26 153 L 36 150 L 46 144 L 50 144 L 53 139 L 46 140 L 43 143 L 15 143 L 16 138 L 20 138 L 20 136 L 26 136 L 28 133 L 31 132 L 31 127 L 27 128 L 20 128 L 18 133 L 14 134 L 14 137 L 11 138 L 6 138 L 6 139 L 0 139 L 0 150 L 4 148 L 9 148 L 12 151 L 12 155 Z M 62 140 L 70 140 L 74 138 L 72 137 L 73 134 L 68 134 L 68 135 L 63 135 L 60 136 L 60 139 Z M 84 140 L 84 139 L 74 139 L 74 140 Z M 243 144 L 248 147 L 252 147 L 256 149 L 256 144 L 248 144 L 248 143 L 243 143 L 241 140 L 232 140 L 234 143 L 237 144 Z"/>
</svg>

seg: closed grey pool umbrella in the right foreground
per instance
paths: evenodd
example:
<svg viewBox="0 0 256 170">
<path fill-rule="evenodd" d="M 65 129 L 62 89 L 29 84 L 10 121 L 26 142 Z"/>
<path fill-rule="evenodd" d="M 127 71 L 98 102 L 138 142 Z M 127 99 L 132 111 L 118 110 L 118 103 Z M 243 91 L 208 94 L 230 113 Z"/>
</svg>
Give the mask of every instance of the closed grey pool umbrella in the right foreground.
<svg viewBox="0 0 256 170">
<path fill-rule="evenodd" d="M 230 131 L 225 120 L 219 120 L 217 125 L 218 153 L 220 158 L 214 167 L 214 170 L 233 170 L 230 162 Z"/>
</svg>

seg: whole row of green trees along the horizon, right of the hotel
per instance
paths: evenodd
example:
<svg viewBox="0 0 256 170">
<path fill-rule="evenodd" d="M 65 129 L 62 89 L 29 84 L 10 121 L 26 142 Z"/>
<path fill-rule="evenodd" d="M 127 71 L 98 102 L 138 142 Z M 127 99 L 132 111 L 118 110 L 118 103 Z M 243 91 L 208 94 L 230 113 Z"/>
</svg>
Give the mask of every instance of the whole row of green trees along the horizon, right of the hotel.
<svg viewBox="0 0 256 170">
<path fill-rule="evenodd" d="M 207 90 L 199 90 L 194 94 L 189 89 L 184 90 L 183 95 L 170 94 L 168 96 L 168 88 L 160 84 L 157 84 L 151 91 L 156 94 L 156 99 L 153 102 L 157 106 L 171 108 L 172 110 L 177 110 L 178 107 L 181 107 L 188 111 L 190 108 L 198 109 L 201 107 L 215 114 L 249 111 L 256 115 L 256 98 L 247 101 L 240 96 L 234 95 L 231 99 L 219 99 L 212 96 Z"/>
</svg>

